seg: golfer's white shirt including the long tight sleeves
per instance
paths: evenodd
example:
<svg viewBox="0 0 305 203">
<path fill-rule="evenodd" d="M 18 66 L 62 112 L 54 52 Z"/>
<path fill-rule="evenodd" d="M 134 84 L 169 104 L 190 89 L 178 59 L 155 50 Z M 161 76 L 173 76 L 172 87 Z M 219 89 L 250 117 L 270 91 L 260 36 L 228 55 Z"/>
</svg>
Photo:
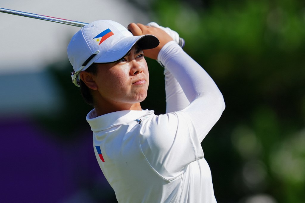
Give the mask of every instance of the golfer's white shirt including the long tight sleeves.
<svg viewBox="0 0 305 203">
<path fill-rule="evenodd" d="M 201 141 L 224 110 L 221 92 L 174 41 L 160 51 L 167 113 L 87 115 L 99 166 L 118 202 L 216 202 Z"/>
</svg>

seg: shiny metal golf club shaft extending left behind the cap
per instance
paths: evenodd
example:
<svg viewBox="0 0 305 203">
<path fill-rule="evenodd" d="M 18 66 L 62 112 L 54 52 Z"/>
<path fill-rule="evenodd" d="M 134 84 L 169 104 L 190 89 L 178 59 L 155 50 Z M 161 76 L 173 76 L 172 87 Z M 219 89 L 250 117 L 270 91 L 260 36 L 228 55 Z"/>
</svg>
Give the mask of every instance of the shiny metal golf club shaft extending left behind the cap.
<svg viewBox="0 0 305 203">
<path fill-rule="evenodd" d="M 54 17 L 50 17 L 50 16 L 43 16 L 43 15 L 38 15 L 38 14 L 34 14 L 34 13 L 27 13 L 27 12 L 15 11 L 15 10 L 10 10 L 10 9 L 3 9 L 3 8 L 0 8 L 0 12 L 13 14 L 13 15 L 17 15 L 17 16 L 24 16 L 24 17 L 28 17 L 28 18 L 36 18 L 39 20 L 52 21 L 55 23 L 62 23 L 62 24 L 66 24 L 66 25 L 76 26 L 76 27 L 84 27 L 85 25 L 88 24 L 88 23 L 82 23 L 82 22 L 78 22 L 78 21 L 74 21 L 74 20 L 54 18 Z"/>
</svg>

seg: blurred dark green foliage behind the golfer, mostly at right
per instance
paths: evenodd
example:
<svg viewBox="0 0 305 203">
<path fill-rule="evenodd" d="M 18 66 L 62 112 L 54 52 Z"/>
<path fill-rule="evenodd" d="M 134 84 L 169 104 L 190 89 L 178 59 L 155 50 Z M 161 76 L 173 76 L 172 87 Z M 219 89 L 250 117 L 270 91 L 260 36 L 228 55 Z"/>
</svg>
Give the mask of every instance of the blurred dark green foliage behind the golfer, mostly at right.
<svg viewBox="0 0 305 203">
<path fill-rule="evenodd" d="M 226 109 L 202 143 L 217 201 L 249 202 L 265 194 L 269 202 L 304 202 L 305 2 L 156 0 L 146 9 L 185 39 L 184 50 L 224 95 Z M 147 61 L 150 87 L 142 108 L 160 114 L 163 70 Z M 90 131 L 85 116 L 91 107 L 71 83 L 71 70 L 68 62 L 50 67 L 66 108 L 56 120 L 40 118 L 63 139 Z"/>
</svg>

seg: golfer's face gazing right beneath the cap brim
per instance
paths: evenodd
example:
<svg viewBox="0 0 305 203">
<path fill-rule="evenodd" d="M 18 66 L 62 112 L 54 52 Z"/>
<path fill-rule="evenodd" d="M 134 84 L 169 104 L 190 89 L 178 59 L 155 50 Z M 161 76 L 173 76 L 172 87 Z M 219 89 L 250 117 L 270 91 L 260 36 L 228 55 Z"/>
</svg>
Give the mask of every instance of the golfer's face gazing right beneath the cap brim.
<svg viewBox="0 0 305 203">
<path fill-rule="evenodd" d="M 119 105 L 142 102 L 147 96 L 149 74 L 143 51 L 134 46 L 121 60 L 97 64 L 94 77 L 97 100 Z"/>
</svg>

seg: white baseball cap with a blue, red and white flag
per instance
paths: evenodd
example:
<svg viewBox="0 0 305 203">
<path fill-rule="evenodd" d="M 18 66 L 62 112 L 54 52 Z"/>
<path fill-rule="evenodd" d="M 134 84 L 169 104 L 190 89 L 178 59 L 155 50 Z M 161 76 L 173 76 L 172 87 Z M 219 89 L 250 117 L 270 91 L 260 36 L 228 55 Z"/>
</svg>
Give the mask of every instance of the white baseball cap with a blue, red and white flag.
<svg viewBox="0 0 305 203">
<path fill-rule="evenodd" d="M 74 71 L 72 82 L 80 86 L 79 73 L 92 63 L 110 63 L 123 58 L 135 45 L 151 49 L 159 45 L 153 35 L 133 36 L 121 24 L 112 20 L 98 20 L 81 28 L 68 45 L 68 58 Z"/>
</svg>

